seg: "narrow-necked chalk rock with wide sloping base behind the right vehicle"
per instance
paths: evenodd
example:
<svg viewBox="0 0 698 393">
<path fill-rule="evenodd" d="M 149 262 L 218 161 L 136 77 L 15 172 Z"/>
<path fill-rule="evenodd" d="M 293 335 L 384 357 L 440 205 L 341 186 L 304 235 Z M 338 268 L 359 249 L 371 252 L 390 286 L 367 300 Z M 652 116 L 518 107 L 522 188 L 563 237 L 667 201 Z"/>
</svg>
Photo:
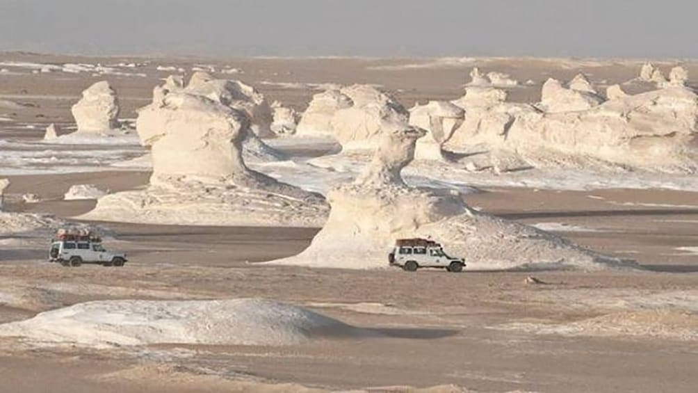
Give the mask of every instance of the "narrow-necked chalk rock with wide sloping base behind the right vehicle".
<svg viewBox="0 0 698 393">
<path fill-rule="evenodd" d="M 382 141 L 362 175 L 328 193 L 332 211 L 311 245 L 282 265 L 373 269 L 387 267 L 396 239 L 426 237 L 466 269 L 604 268 L 618 263 L 536 228 L 469 209 L 457 193 L 417 189 L 401 178 L 425 131 L 386 124 Z"/>
</svg>

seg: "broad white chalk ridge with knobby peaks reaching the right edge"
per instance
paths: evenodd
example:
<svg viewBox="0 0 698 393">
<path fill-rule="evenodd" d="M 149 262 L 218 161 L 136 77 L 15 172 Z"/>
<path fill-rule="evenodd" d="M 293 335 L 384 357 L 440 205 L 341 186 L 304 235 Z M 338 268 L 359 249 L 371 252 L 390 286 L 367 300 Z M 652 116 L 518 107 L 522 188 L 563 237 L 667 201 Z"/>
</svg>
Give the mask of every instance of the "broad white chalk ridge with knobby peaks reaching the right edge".
<svg viewBox="0 0 698 393">
<path fill-rule="evenodd" d="M 674 79 L 682 75 L 676 71 Z M 507 103 L 500 89 L 469 87 L 454 101 L 466 117 L 445 148 L 487 151 L 489 157 L 477 167 L 497 170 L 698 172 L 698 97 L 693 91 L 667 84 L 630 96 L 615 85 L 606 96 L 604 102 L 584 75 L 567 87 L 548 80 L 535 105 Z"/>
</svg>

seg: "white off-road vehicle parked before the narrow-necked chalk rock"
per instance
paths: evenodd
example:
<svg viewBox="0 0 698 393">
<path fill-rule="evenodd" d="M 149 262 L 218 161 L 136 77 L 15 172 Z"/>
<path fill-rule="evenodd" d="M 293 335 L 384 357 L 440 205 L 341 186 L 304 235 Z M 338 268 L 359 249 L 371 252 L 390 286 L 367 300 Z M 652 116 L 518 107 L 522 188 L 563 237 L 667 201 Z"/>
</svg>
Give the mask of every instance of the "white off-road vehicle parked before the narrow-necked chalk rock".
<svg viewBox="0 0 698 393">
<path fill-rule="evenodd" d="M 388 254 L 391 266 L 399 266 L 408 272 L 420 267 L 440 267 L 449 272 L 461 272 L 466 265 L 462 258 L 453 258 L 443 247 L 427 239 L 398 239 L 395 248 Z"/>
</svg>

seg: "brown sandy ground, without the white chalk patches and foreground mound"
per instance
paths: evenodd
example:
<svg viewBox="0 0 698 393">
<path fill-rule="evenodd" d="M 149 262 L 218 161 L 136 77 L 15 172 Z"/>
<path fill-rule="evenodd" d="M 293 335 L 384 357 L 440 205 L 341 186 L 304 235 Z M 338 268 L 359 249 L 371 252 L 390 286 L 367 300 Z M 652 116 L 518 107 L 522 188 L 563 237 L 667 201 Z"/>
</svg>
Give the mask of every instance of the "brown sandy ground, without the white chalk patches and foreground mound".
<svg viewBox="0 0 698 393">
<path fill-rule="evenodd" d="M 131 60 L 34 54 L 0 59 Z M 312 89 L 259 82 L 376 83 L 411 106 L 415 100 L 458 96 L 473 65 L 425 68 L 426 59 L 152 59 L 144 68 L 147 77 L 108 77 L 124 104 L 122 117 L 135 117 L 133 110 L 149 100 L 158 77 L 168 75 L 154 72 L 158 64 L 188 69 L 202 63 L 241 68 L 244 73 L 233 77 L 299 109 Z M 522 82 L 572 77 L 580 70 L 596 82 L 621 82 L 634 77 L 639 64 L 477 62 L 484 71 L 511 73 Z M 689 68 L 698 75 L 695 64 Z M 0 76 L 0 98 L 34 105 L 3 110 L 14 121 L 0 124 L 0 138 L 36 140 L 43 131 L 25 124 L 70 124 L 68 108 L 84 87 L 100 79 L 82 73 Z M 539 90 L 540 83 L 517 88 L 512 97 L 528 100 Z M 95 203 L 61 200 L 71 184 L 123 191 L 146 184 L 148 177 L 135 171 L 10 176 L 9 207 L 67 218 Z M 19 202 L 23 193 L 36 193 L 42 202 Z M 96 223 L 110 232 L 107 246 L 128 253 L 126 267 L 69 269 L 45 262 L 43 245 L 0 244 L 0 295 L 13 299 L 0 296 L 0 322 L 97 299 L 264 297 L 306 306 L 376 334 L 285 347 L 113 350 L 43 347 L 5 338 L 0 339 L 0 392 L 396 391 L 398 386 L 438 385 L 447 386 L 431 391 L 695 392 L 698 339 L 690 334 L 698 332 L 692 325 L 698 318 L 698 254 L 682 248 L 698 247 L 697 193 L 487 188 L 468 195 L 468 203 L 523 223 L 548 225 L 574 242 L 636 260 L 645 269 L 409 274 L 274 267 L 257 262 L 302 251 L 318 229 Z M 526 284 L 530 275 L 542 283 Z"/>
</svg>

